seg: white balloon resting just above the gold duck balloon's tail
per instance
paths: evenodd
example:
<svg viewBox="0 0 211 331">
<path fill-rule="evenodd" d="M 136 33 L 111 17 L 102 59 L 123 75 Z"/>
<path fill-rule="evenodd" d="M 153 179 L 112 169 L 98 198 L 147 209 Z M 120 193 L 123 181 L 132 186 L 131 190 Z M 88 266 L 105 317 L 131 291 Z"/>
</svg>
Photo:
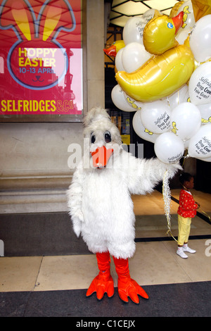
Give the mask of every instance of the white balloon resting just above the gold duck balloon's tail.
<svg viewBox="0 0 211 331">
<path fill-rule="evenodd" d="M 122 65 L 127 73 L 139 69 L 143 63 L 151 58 L 151 54 L 139 42 L 130 42 L 122 51 Z"/>
</svg>

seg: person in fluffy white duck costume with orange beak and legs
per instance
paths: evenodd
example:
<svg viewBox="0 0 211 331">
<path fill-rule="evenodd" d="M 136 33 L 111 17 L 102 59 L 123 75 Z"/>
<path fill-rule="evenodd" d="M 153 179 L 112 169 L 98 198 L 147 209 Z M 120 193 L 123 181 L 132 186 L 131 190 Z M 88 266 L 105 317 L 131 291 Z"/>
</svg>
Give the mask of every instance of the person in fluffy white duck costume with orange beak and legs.
<svg viewBox="0 0 211 331">
<path fill-rule="evenodd" d="M 136 158 L 122 149 L 120 132 L 108 112 L 91 108 L 84 118 L 84 156 L 67 191 L 68 212 L 77 237 L 82 235 L 89 251 L 96 254 L 99 273 L 91 282 L 87 296 L 96 292 L 114 294 L 110 275 L 113 256 L 118 275 L 118 294 L 139 304 L 148 294 L 129 274 L 128 258 L 135 251 L 135 216 L 131 194 L 146 194 L 163 179 L 168 170 L 173 177 L 179 164 L 165 164 L 158 158 Z M 150 198 L 149 198 L 150 199 Z"/>
</svg>

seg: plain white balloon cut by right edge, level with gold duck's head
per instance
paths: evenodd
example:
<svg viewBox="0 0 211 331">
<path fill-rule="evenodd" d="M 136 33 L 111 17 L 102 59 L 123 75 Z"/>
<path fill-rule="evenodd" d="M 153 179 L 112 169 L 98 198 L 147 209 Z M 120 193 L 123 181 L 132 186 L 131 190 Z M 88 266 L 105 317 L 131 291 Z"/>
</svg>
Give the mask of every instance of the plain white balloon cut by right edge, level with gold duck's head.
<svg viewBox="0 0 211 331">
<path fill-rule="evenodd" d="M 196 61 L 205 62 L 211 57 L 211 15 L 205 15 L 196 22 L 189 42 Z"/>
</svg>

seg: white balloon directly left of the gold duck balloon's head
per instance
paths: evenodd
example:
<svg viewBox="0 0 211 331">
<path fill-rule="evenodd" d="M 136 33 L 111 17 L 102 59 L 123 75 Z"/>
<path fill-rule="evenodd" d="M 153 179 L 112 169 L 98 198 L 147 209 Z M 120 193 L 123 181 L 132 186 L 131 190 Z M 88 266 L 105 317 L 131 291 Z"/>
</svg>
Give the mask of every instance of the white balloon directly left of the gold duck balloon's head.
<svg viewBox="0 0 211 331">
<path fill-rule="evenodd" d="M 143 29 L 146 25 L 146 19 L 142 16 L 134 16 L 127 20 L 123 29 L 124 44 L 127 45 L 130 42 L 139 42 L 143 44 Z"/>
</svg>

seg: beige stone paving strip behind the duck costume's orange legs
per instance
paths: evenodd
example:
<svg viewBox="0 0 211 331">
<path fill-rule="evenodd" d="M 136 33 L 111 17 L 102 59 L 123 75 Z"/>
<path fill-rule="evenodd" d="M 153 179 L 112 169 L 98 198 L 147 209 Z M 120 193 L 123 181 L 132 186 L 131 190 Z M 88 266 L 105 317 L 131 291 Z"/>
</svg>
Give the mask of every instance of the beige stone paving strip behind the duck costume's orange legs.
<svg viewBox="0 0 211 331">
<path fill-rule="evenodd" d="M 174 242 L 139 242 L 129 260 L 131 276 L 140 285 L 211 280 L 210 239 L 192 240 L 196 254 L 184 260 L 175 254 Z M 97 275 L 94 255 L 4 257 L 0 259 L 0 292 L 87 289 Z M 111 273 L 117 287 L 113 261 Z"/>
</svg>

